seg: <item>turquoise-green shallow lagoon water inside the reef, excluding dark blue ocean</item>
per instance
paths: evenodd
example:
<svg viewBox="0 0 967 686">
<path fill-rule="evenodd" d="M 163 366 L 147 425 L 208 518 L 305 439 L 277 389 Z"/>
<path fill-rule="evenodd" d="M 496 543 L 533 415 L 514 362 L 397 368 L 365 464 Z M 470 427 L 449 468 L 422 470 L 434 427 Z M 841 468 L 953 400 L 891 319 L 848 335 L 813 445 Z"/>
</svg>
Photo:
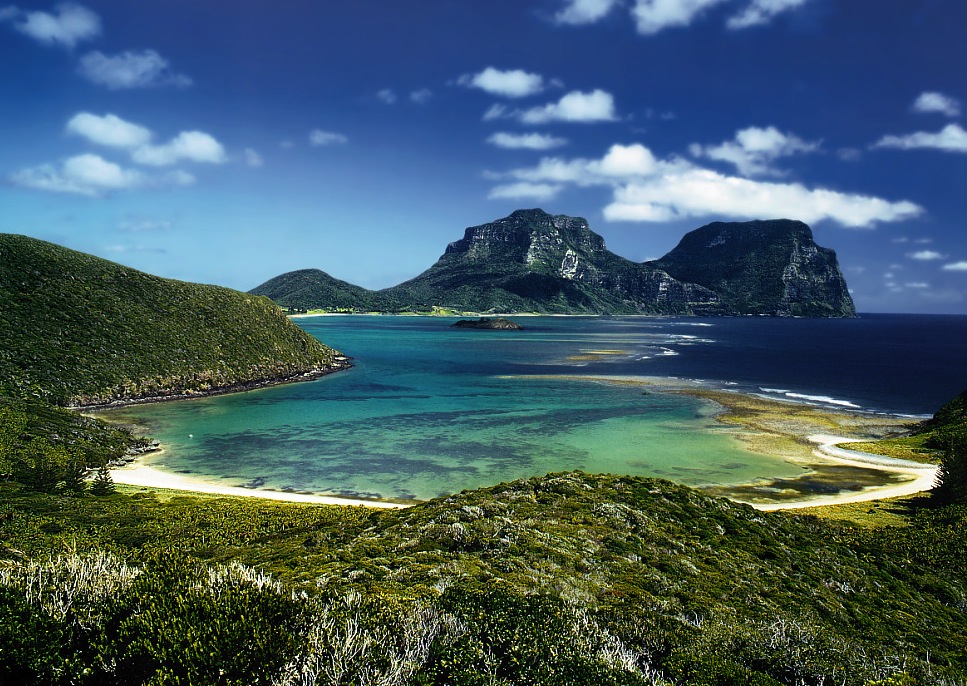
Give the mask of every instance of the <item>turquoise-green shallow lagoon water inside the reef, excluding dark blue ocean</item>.
<svg viewBox="0 0 967 686">
<path fill-rule="evenodd" d="M 649 374 L 714 346 L 713 323 L 539 317 L 498 332 L 453 321 L 301 319 L 354 368 L 111 414 L 162 442 L 148 464 L 251 488 L 409 500 L 570 469 L 694 486 L 801 474 L 744 450 L 704 401 L 554 378 Z"/>
</svg>

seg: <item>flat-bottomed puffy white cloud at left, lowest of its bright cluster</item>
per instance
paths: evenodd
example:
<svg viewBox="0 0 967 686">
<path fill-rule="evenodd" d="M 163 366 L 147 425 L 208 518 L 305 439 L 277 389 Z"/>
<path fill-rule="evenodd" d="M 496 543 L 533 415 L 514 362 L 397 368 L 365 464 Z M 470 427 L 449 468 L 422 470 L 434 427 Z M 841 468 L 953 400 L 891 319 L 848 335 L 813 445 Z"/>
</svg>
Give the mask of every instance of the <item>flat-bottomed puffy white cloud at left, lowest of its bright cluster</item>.
<svg viewBox="0 0 967 686">
<path fill-rule="evenodd" d="M 35 190 L 88 196 L 137 188 L 147 183 L 141 172 L 124 169 L 99 155 L 91 154 L 71 157 L 60 168 L 44 164 L 24 169 L 14 174 L 11 181 Z"/>
</svg>

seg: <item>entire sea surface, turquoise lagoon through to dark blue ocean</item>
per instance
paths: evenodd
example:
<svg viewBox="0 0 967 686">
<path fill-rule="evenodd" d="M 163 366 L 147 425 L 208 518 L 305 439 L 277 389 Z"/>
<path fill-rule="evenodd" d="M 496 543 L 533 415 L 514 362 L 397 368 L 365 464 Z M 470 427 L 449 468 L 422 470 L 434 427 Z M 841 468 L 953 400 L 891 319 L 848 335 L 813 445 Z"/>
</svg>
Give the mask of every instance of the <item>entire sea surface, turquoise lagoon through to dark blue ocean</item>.
<svg viewBox="0 0 967 686">
<path fill-rule="evenodd" d="M 752 454 L 715 407 L 555 376 L 676 377 L 863 412 L 927 416 L 967 390 L 967 317 L 519 317 L 297 320 L 355 367 L 315 382 L 125 408 L 161 469 L 226 485 L 426 499 L 550 471 L 694 486 L 795 476 Z"/>
</svg>

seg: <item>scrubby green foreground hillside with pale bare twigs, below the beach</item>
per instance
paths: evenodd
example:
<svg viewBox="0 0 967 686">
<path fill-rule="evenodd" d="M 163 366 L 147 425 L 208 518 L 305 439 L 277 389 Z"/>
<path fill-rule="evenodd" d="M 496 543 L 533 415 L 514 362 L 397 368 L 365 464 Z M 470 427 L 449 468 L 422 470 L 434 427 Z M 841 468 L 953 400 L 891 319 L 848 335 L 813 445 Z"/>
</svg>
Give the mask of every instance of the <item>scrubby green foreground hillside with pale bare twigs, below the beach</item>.
<svg viewBox="0 0 967 686">
<path fill-rule="evenodd" d="M 582 473 L 395 512 L 2 488 L 0 665 L 34 683 L 967 678 L 963 507 L 861 529 Z"/>
</svg>

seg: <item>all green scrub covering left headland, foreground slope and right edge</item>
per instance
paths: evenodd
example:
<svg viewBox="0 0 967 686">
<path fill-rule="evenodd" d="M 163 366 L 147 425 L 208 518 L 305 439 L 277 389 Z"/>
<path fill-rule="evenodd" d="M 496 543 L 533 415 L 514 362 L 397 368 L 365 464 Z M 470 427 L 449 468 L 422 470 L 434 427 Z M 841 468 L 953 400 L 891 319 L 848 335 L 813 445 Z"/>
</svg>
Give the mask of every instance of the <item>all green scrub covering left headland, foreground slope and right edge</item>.
<svg viewBox="0 0 967 686">
<path fill-rule="evenodd" d="M 56 404 L 336 354 L 266 299 L 31 239 L 0 277 L 0 684 L 967 680 L 965 396 L 922 429 L 943 498 L 887 526 L 580 472 L 394 511 L 118 488 L 138 440 Z"/>
</svg>

